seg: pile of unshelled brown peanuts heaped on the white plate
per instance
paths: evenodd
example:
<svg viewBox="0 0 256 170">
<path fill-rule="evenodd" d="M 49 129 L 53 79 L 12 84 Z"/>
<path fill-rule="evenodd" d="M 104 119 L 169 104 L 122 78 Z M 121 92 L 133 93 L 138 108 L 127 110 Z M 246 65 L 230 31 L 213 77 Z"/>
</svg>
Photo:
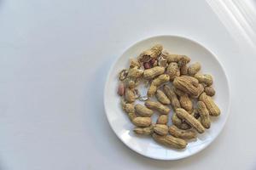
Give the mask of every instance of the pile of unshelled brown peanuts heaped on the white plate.
<svg viewBox="0 0 256 170">
<path fill-rule="evenodd" d="M 130 67 L 119 72 L 118 94 L 122 109 L 135 125 L 134 133 L 184 149 L 189 139 L 196 139 L 197 133 L 211 127 L 210 116 L 220 114 L 212 99 L 212 76 L 199 72 L 199 62 L 188 65 L 189 62 L 188 56 L 169 54 L 156 44 L 131 59 Z M 140 83 L 148 86 L 145 96 L 137 89 Z M 144 105 L 136 104 L 137 100 Z M 151 118 L 154 112 L 158 113 L 156 122 Z M 169 115 L 172 123 L 168 122 Z"/>
</svg>

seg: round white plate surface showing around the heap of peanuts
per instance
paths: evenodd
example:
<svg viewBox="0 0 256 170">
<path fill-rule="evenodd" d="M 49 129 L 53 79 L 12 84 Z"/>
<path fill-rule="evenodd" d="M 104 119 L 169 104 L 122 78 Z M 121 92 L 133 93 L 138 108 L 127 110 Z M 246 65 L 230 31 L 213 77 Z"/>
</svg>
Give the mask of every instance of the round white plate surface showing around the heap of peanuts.
<svg viewBox="0 0 256 170">
<path fill-rule="evenodd" d="M 216 90 L 214 100 L 221 110 L 221 115 L 212 117 L 211 128 L 205 133 L 198 135 L 196 140 L 189 141 L 189 144 L 184 150 L 167 148 L 155 143 L 150 137 L 141 137 L 134 134 L 132 132 L 134 126 L 120 107 L 120 98 L 117 94 L 119 71 L 128 68 L 129 59 L 131 57 L 137 57 L 143 50 L 152 47 L 156 43 L 162 44 L 164 48 L 172 54 L 188 55 L 191 58 L 190 63 L 195 61 L 201 62 L 201 72 L 210 73 L 214 78 L 213 87 Z M 211 144 L 212 141 L 216 139 L 218 133 L 223 129 L 224 123 L 229 115 L 230 89 L 224 69 L 218 62 L 217 57 L 198 42 L 177 36 L 150 37 L 128 48 L 125 53 L 113 63 L 105 85 L 104 105 L 108 122 L 113 128 L 114 133 L 116 133 L 119 139 L 131 148 L 131 150 L 154 159 L 177 160 L 194 155 L 206 148 L 207 145 Z M 169 117 L 171 116 L 172 113 Z"/>
</svg>

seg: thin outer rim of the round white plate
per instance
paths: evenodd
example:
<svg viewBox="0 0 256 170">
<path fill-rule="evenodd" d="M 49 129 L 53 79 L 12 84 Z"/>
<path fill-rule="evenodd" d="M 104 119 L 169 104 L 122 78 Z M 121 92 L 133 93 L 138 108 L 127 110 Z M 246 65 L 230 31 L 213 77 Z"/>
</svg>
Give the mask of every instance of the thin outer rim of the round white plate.
<svg viewBox="0 0 256 170">
<path fill-rule="evenodd" d="M 117 63 L 117 61 L 119 60 L 119 58 L 122 57 L 122 56 L 126 53 L 126 51 L 128 51 L 130 48 L 136 46 L 138 43 L 143 42 L 143 41 L 146 41 L 146 40 L 148 40 L 148 39 L 154 39 L 154 38 L 160 38 L 160 37 L 176 37 L 176 38 L 183 38 L 183 39 L 188 40 L 188 41 L 190 41 L 190 42 L 196 43 L 197 45 L 201 46 L 201 48 L 205 48 L 210 54 L 212 54 L 213 58 L 218 62 L 218 65 L 220 65 L 221 70 L 224 72 L 224 77 L 225 77 L 225 79 L 226 79 L 227 87 L 228 87 L 227 93 L 228 93 L 228 99 L 229 99 L 229 101 L 228 101 L 228 107 L 227 107 L 227 113 L 226 113 L 227 116 L 225 117 L 225 120 L 224 120 L 224 123 L 222 124 L 222 127 L 220 127 L 219 133 L 218 133 L 214 138 L 212 138 L 212 140 L 211 140 L 209 143 L 205 144 L 205 145 L 204 145 L 203 147 L 201 147 L 199 150 L 196 150 L 194 153 L 192 153 L 192 154 L 190 154 L 190 155 L 187 155 L 187 156 L 179 156 L 179 157 L 177 157 L 177 159 L 176 159 L 176 158 L 174 158 L 174 159 L 173 159 L 173 158 L 172 158 L 172 159 L 165 159 L 165 158 L 157 157 L 157 156 L 148 156 L 148 155 L 144 155 L 144 154 L 143 154 L 143 151 L 135 150 L 135 149 L 131 148 L 131 147 L 130 147 L 128 144 L 126 144 L 125 141 L 124 141 L 123 139 L 121 139 L 121 138 L 119 137 L 119 135 L 115 132 L 115 130 L 114 130 L 112 124 L 111 124 L 110 121 L 109 121 L 109 116 L 108 116 L 108 113 L 107 113 L 107 104 L 106 104 L 106 101 L 107 101 L 107 91 L 108 91 L 108 90 L 107 90 L 107 85 L 108 85 L 109 77 L 110 77 L 111 73 L 113 72 L 113 67 L 114 67 L 114 65 L 116 65 L 116 63 Z M 224 71 L 224 66 L 223 66 L 222 63 L 218 60 L 217 55 L 215 55 L 215 54 L 212 52 L 212 50 L 210 50 L 209 48 L 206 48 L 205 46 L 203 46 L 203 45 L 201 44 L 201 42 L 198 42 L 198 41 L 195 41 L 195 39 L 192 39 L 192 38 L 189 38 L 189 37 L 180 36 L 180 35 L 172 35 L 172 34 L 168 34 L 168 35 L 167 35 L 167 34 L 163 34 L 163 35 L 155 35 L 155 36 L 153 36 L 153 37 L 145 37 L 145 38 L 143 38 L 143 39 L 141 39 L 141 40 L 139 40 L 139 41 L 137 41 L 137 42 L 131 44 L 128 48 L 125 48 L 125 50 L 123 51 L 123 53 L 122 53 L 122 54 L 119 54 L 119 56 L 118 56 L 116 59 L 114 59 L 113 63 L 112 63 L 111 66 L 110 66 L 110 69 L 109 69 L 109 71 L 108 71 L 108 76 L 107 76 L 107 79 L 106 79 L 105 84 L 104 84 L 104 93 L 103 93 L 103 95 L 104 95 L 104 96 L 103 96 L 104 111 L 105 111 L 105 114 L 106 114 L 107 119 L 108 119 L 108 124 L 110 125 L 110 127 L 112 128 L 113 132 L 114 132 L 115 135 L 118 137 L 118 139 L 121 140 L 122 143 L 125 144 L 130 150 L 133 150 L 133 151 L 135 151 L 136 153 L 138 153 L 139 155 L 142 155 L 142 156 L 145 156 L 145 157 L 154 159 L 154 160 L 175 161 L 175 160 L 180 160 L 180 159 L 183 159 L 183 158 L 186 158 L 186 157 L 189 157 L 189 156 L 194 156 L 195 154 L 201 152 L 201 150 L 206 149 L 210 144 L 212 144 L 212 142 L 213 142 L 215 139 L 218 138 L 219 134 L 223 132 L 224 126 L 225 126 L 225 124 L 226 124 L 226 122 L 227 122 L 227 120 L 228 120 L 228 118 L 229 118 L 229 116 L 230 116 L 230 105 L 231 105 L 230 81 L 229 81 L 229 77 L 227 76 L 226 72 Z"/>
</svg>

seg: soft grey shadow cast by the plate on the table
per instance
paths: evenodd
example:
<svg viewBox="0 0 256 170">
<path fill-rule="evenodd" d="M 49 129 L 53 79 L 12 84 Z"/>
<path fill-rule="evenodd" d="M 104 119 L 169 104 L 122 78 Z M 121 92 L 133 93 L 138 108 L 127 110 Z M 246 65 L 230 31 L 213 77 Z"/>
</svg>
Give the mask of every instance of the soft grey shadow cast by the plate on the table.
<svg viewBox="0 0 256 170">
<path fill-rule="evenodd" d="M 91 96 L 94 93 L 94 98 L 91 99 L 91 104 L 87 106 L 93 107 L 95 112 L 87 114 L 84 119 L 87 120 L 86 128 L 90 133 L 91 144 L 96 148 L 96 152 L 106 159 L 107 162 L 117 161 L 122 164 L 122 161 L 131 161 L 137 165 L 148 168 L 160 168 L 160 169 L 170 169 L 170 167 L 189 167 L 191 164 L 195 164 L 198 161 L 203 161 L 204 157 L 210 156 L 212 150 L 216 150 L 216 139 L 207 149 L 202 150 L 194 156 L 178 160 L 178 161 L 158 161 L 150 159 L 145 156 L 137 154 L 137 152 L 130 150 L 125 144 L 123 144 L 117 136 L 113 133 L 110 125 L 108 124 L 107 116 L 103 107 L 103 93 L 104 85 L 108 75 L 109 67 L 113 59 L 106 59 L 102 61 L 102 65 L 96 68 L 96 71 L 92 73 L 91 80 L 88 82 L 96 82 L 89 85 L 87 93 L 85 96 Z M 97 90 L 96 90 L 97 89 Z M 99 104 L 100 103 L 100 104 Z M 85 108 L 88 109 L 88 108 Z M 90 110 L 91 111 L 91 110 Z M 99 114 L 100 113 L 100 114 Z M 96 147 L 95 147 L 96 146 Z M 109 155 L 111 153 L 111 156 Z M 128 167 L 128 166 L 126 166 Z"/>
</svg>

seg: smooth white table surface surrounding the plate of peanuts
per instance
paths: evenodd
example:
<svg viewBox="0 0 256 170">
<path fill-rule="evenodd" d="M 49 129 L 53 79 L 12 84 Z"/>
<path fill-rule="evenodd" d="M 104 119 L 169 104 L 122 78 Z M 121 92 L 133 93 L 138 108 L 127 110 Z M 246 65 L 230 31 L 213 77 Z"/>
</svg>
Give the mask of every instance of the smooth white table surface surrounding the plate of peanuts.
<svg viewBox="0 0 256 170">
<path fill-rule="evenodd" d="M 256 3 L 0 1 L 0 169 L 256 169 Z M 143 38 L 195 39 L 218 55 L 230 117 L 207 149 L 156 161 L 108 125 L 103 87 L 113 60 Z"/>
</svg>

